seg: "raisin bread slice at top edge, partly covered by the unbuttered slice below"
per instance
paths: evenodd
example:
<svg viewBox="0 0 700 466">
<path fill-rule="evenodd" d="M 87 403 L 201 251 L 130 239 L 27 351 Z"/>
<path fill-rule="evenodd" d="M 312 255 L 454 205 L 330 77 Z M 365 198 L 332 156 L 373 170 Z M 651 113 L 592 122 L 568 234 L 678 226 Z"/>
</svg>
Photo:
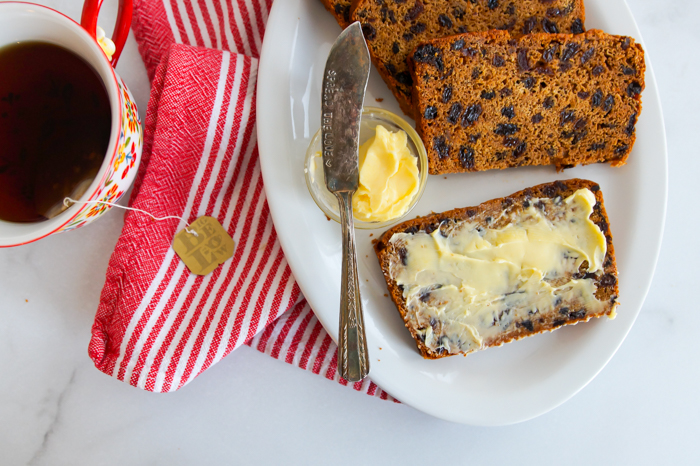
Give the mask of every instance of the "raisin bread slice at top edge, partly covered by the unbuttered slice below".
<svg viewBox="0 0 700 466">
<path fill-rule="evenodd" d="M 412 77 L 406 58 L 430 39 L 502 29 L 513 36 L 531 32 L 582 33 L 583 0 L 359 0 L 352 20 L 362 30 L 372 61 L 401 110 L 413 116 Z"/>
</svg>

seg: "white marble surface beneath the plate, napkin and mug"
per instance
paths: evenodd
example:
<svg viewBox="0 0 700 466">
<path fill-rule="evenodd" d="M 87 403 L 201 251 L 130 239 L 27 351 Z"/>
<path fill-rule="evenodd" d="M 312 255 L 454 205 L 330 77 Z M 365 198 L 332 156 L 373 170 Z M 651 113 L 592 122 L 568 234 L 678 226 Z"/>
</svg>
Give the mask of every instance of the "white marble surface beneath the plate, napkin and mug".
<svg viewBox="0 0 700 466">
<path fill-rule="evenodd" d="M 80 15 L 79 0 L 43 3 Z M 107 3 L 103 25 L 115 15 L 116 2 Z M 666 119 L 666 233 L 635 326 L 573 399 L 514 426 L 462 426 L 247 347 L 176 393 L 130 387 L 87 356 L 122 225 L 112 212 L 90 227 L 0 250 L 0 464 L 699 464 L 700 4 L 628 3 Z M 148 81 L 133 39 L 118 70 L 143 114 Z"/>
</svg>

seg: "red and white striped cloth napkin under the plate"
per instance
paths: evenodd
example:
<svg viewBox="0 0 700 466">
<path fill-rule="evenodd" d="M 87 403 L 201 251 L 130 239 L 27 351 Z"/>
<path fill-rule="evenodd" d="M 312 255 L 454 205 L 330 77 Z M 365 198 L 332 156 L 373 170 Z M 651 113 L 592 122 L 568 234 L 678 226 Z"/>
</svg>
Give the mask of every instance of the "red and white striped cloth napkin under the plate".
<svg viewBox="0 0 700 466">
<path fill-rule="evenodd" d="M 255 84 L 272 1 L 134 3 L 152 89 L 131 205 L 189 222 L 215 217 L 236 249 L 211 274 L 192 275 L 171 247 L 184 221 L 127 213 L 90 357 L 119 380 L 169 392 L 247 344 L 348 385 L 337 375 L 336 345 L 291 275 L 263 189 Z M 351 386 L 393 400 L 368 379 Z"/>
</svg>

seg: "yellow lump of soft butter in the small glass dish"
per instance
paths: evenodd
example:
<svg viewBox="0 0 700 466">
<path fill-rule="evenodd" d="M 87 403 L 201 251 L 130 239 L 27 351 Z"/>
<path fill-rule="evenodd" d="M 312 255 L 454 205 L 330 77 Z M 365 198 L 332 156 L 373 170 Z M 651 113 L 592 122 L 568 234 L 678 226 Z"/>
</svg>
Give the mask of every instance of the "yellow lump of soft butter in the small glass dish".
<svg viewBox="0 0 700 466">
<path fill-rule="evenodd" d="M 360 186 L 352 199 L 355 218 L 383 222 L 408 210 L 420 184 L 418 159 L 408 149 L 405 131 L 381 125 L 360 146 Z"/>
</svg>

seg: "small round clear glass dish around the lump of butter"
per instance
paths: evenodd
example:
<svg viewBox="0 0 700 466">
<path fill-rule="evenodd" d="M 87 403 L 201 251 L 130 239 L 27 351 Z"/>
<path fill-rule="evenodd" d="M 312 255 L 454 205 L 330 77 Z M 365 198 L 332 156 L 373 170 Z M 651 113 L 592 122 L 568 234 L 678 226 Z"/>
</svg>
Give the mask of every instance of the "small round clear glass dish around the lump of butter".
<svg viewBox="0 0 700 466">
<path fill-rule="evenodd" d="M 360 123 L 360 145 L 374 136 L 377 125 L 382 125 L 391 132 L 399 130 L 405 131 L 408 135 L 408 150 L 411 155 L 418 159 L 418 192 L 413 196 L 408 210 L 398 217 L 394 217 L 382 222 L 367 222 L 353 217 L 355 228 L 371 230 L 375 228 L 384 228 L 394 223 L 397 223 L 402 218 L 406 217 L 409 212 L 415 207 L 420 200 L 425 190 L 425 184 L 428 179 L 428 156 L 425 152 L 425 146 L 421 141 L 416 130 L 413 129 L 403 118 L 391 113 L 387 110 L 378 107 L 365 107 L 362 110 L 362 121 Z M 338 213 L 338 200 L 326 189 L 326 182 L 323 176 L 323 167 L 318 166 L 317 162 L 320 158 L 316 154 L 321 153 L 321 129 L 314 134 L 311 139 L 308 149 L 306 149 L 306 158 L 304 160 L 304 174 L 306 177 L 306 186 L 309 188 L 309 193 L 316 205 L 326 214 L 340 223 Z"/>
</svg>

